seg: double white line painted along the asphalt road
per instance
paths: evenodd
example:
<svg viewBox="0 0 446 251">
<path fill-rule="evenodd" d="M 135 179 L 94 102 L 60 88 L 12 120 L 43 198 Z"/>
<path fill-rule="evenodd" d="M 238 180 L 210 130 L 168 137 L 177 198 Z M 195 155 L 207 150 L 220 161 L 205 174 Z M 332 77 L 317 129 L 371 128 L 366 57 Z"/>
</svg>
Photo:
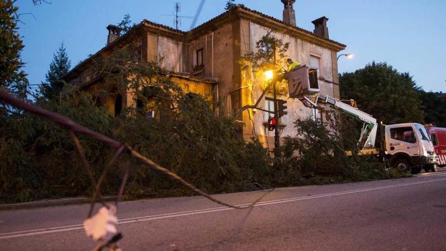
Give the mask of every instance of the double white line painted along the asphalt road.
<svg viewBox="0 0 446 251">
<path fill-rule="evenodd" d="M 427 184 L 427 183 L 433 183 L 433 182 L 441 182 L 441 181 L 446 181 L 446 178 L 441 178 L 441 179 L 436 179 L 436 180 L 429 180 L 429 181 L 403 183 L 403 184 L 397 184 L 397 185 L 387 185 L 387 186 L 381 186 L 381 187 L 354 189 L 354 190 L 348 190 L 348 191 L 342 191 L 342 192 L 333 192 L 333 193 L 327 193 L 327 194 L 319 194 L 319 195 L 313 195 L 313 196 L 303 196 L 303 197 L 294 197 L 294 198 L 279 199 L 279 200 L 262 201 L 262 202 L 258 202 L 254 206 L 266 206 L 266 205 L 273 205 L 273 204 L 281 204 L 281 203 L 288 203 L 288 202 L 295 202 L 295 201 L 302 201 L 302 200 L 310 200 L 310 199 L 317 199 L 317 198 L 340 196 L 340 195 L 346 195 L 346 194 L 362 193 L 362 192 L 368 192 L 368 191 L 377 191 L 377 190 L 390 189 L 390 188 L 398 188 L 398 187 L 405 187 L 405 186 L 421 185 L 421 184 Z M 238 206 L 249 206 L 249 205 L 251 205 L 251 203 L 241 204 L 241 205 L 238 205 Z M 210 213 L 210 212 L 219 212 L 219 211 L 227 211 L 227 210 L 235 210 L 235 209 L 231 208 L 231 207 L 213 207 L 213 208 L 206 208 L 206 209 L 198 209 L 198 210 L 190 210 L 190 211 L 182 211 L 182 212 L 157 214 L 155 216 L 143 216 L 143 217 L 127 218 L 127 219 L 120 220 L 118 225 L 129 224 L 129 223 L 137 223 L 137 222 L 144 222 L 144 221 L 162 220 L 162 219 L 168 219 L 168 218 L 174 218 L 174 217 L 182 217 L 182 216 L 193 216 L 193 215 L 196 215 L 196 214 Z M 59 233 L 59 232 L 66 232 L 66 231 L 72 231 L 72 230 L 80 230 L 80 229 L 83 229 L 83 228 L 84 228 L 83 225 L 70 225 L 70 226 L 61 226 L 61 227 L 52 227 L 52 228 L 43 228 L 43 229 L 33 229 L 33 230 L 9 232 L 9 233 L 0 233 L 0 239 L 10 239 L 10 238 L 16 238 L 16 237 L 25 237 L 25 236 L 33 236 L 33 235 L 41 235 L 41 234 Z"/>
</svg>

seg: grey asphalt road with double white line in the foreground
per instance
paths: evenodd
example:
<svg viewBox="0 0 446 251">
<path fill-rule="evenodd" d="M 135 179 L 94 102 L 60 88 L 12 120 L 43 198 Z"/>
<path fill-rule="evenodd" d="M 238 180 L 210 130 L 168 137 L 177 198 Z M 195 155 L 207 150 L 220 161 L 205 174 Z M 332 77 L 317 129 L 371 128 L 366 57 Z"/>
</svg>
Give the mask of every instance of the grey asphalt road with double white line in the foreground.
<svg viewBox="0 0 446 251">
<path fill-rule="evenodd" d="M 444 169 L 444 170 L 442 170 Z M 124 250 L 446 250 L 446 168 L 414 178 L 121 203 Z M 0 250 L 89 250 L 88 205 L 0 211 Z"/>
</svg>

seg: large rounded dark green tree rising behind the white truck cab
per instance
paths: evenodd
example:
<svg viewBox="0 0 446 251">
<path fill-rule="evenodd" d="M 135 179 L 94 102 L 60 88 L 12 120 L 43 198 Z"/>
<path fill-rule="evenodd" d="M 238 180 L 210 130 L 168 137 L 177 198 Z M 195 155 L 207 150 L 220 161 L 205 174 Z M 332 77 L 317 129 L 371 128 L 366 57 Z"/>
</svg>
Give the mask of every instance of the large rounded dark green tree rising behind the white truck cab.
<svg viewBox="0 0 446 251">
<path fill-rule="evenodd" d="M 367 64 L 339 78 L 341 97 L 353 98 L 360 110 L 385 124 L 424 121 L 420 88 L 408 73 L 399 73 L 387 63 Z"/>
</svg>

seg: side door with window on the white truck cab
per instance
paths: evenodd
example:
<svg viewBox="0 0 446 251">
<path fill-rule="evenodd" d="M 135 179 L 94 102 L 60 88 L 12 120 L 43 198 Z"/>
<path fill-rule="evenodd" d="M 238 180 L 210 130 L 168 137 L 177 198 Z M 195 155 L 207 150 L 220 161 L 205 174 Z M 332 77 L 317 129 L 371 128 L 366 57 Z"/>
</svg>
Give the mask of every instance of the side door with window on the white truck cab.
<svg viewBox="0 0 446 251">
<path fill-rule="evenodd" d="M 387 151 L 391 155 L 405 153 L 409 156 L 420 156 L 417 134 L 412 126 L 393 127 L 387 131 Z"/>
</svg>

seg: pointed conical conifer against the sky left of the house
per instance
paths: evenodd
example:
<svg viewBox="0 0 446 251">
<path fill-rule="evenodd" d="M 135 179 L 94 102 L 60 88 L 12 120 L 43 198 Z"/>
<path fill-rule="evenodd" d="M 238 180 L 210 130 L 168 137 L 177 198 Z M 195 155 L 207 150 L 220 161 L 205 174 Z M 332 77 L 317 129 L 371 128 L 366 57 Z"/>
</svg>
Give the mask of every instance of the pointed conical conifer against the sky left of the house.
<svg viewBox="0 0 446 251">
<path fill-rule="evenodd" d="M 66 53 L 66 47 L 63 42 L 60 44 L 57 52 L 53 54 L 53 60 L 50 63 L 48 73 L 45 75 L 45 82 L 40 87 L 40 95 L 45 98 L 54 98 L 59 96 L 63 89 L 63 83 L 58 82 L 60 78 L 67 74 L 71 67 L 71 60 Z"/>
</svg>

